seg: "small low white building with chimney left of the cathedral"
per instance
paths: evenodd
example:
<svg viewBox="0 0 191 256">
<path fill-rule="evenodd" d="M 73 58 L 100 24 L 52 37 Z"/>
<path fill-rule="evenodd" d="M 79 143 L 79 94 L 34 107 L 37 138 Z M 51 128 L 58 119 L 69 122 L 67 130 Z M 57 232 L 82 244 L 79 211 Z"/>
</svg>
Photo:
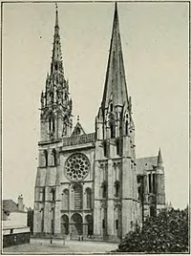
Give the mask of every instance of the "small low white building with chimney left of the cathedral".
<svg viewBox="0 0 191 256">
<path fill-rule="evenodd" d="M 31 231 L 27 217 L 22 195 L 18 197 L 18 203 L 3 200 L 3 247 L 30 243 Z"/>
</svg>

